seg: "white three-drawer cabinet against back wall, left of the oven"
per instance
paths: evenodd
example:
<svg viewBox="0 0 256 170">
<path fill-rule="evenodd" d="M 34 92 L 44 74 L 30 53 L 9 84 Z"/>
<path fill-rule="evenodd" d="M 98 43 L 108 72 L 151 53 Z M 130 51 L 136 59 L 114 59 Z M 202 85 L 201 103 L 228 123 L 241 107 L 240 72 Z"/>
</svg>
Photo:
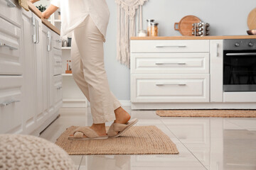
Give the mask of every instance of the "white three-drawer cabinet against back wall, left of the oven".
<svg viewBox="0 0 256 170">
<path fill-rule="evenodd" d="M 131 52 L 132 109 L 210 102 L 210 40 L 132 40 Z"/>
</svg>

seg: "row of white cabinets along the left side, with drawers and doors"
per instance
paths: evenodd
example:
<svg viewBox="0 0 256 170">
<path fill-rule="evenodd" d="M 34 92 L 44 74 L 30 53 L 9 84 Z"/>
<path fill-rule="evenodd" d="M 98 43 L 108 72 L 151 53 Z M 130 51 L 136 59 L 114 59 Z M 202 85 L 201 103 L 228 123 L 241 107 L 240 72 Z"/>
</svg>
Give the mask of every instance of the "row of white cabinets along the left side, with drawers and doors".
<svg viewBox="0 0 256 170">
<path fill-rule="evenodd" d="M 60 36 L 31 11 L 6 6 L 0 0 L 0 133 L 38 135 L 62 106 Z"/>
</svg>

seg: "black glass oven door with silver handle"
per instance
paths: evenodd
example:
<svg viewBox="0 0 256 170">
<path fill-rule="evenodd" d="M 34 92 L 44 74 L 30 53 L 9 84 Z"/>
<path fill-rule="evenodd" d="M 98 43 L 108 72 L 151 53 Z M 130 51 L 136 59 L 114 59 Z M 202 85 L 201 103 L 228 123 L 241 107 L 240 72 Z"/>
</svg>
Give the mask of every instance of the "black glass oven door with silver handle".
<svg viewBox="0 0 256 170">
<path fill-rule="evenodd" d="M 256 50 L 225 50 L 223 90 L 256 91 Z"/>
</svg>

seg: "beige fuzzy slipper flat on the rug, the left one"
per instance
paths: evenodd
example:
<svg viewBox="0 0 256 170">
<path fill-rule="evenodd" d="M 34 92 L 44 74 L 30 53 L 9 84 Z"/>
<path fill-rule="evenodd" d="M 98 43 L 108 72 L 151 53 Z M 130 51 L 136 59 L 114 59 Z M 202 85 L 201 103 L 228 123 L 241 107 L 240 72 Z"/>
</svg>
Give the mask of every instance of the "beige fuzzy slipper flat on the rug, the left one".
<svg viewBox="0 0 256 170">
<path fill-rule="evenodd" d="M 73 136 L 69 136 L 68 140 L 105 140 L 108 136 L 99 136 L 97 132 L 89 127 L 79 127 L 73 130 Z"/>
</svg>

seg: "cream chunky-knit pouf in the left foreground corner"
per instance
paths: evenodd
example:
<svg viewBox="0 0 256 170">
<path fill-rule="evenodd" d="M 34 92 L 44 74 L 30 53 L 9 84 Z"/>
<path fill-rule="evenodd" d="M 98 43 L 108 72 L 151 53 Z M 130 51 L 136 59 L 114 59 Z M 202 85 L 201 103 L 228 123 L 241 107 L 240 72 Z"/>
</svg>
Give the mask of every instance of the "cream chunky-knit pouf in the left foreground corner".
<svg viewBox="0 0 256 170">
<path fill-rule="evenodd" d="M 31 135 L 0 135 L 0 169 L 75 169 L 69 155 L 60 147 Z"/>
</svg>

